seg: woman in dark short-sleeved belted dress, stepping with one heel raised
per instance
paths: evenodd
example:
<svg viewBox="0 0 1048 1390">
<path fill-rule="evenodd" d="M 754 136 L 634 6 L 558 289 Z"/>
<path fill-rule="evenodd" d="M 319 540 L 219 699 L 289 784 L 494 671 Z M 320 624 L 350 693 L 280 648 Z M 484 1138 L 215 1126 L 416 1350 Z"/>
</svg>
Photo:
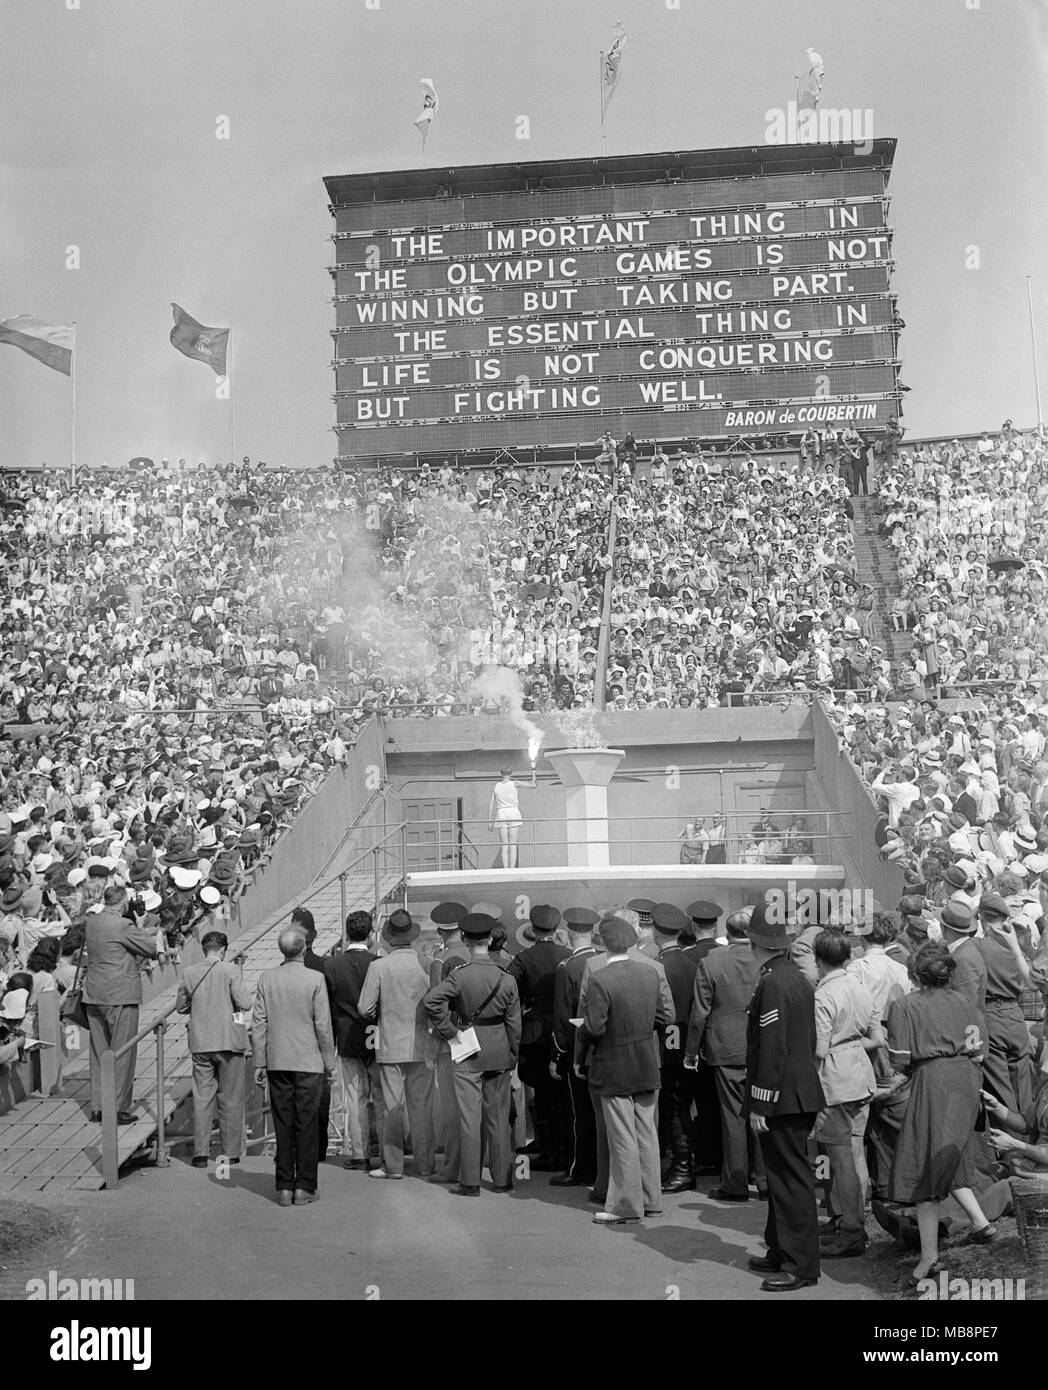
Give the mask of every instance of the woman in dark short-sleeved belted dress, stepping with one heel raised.
<svg viewBox="0 0 1048 1390">
<path fill-rule="evenodd" d="M 941 941 L 926 942 L 910 960 L 919 988 L 896 999 L 887 1019 L 891 1061 L 912 1083 L 892 1158 L 890 1198 L 917 1208 L 920 1261 L 915 1282 L 938 1273 L 944 1198 L 956 1198 L 973 1237 L 984 1241 L 994 1234 L 972 1190 L 980 1108 L 976 1062 L 983 1040 L 974 1009 L 949 987 L 955 969 L 956 960 Z"/>
</svg>

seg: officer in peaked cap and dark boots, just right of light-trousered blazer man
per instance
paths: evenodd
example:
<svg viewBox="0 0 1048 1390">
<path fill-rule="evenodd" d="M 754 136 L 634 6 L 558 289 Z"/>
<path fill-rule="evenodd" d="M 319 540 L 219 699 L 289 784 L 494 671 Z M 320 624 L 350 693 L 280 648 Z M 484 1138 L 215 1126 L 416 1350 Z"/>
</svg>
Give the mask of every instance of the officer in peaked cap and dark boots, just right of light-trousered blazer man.
<svg viewBox="0 0 1048 1390">
<path fill-rule="evenodd" d="M 659 1029 L 662 1080 L 659 1148 L 664 1151 L 669 1147 L 673 1159 L 662 1183 L 664 1193 L 687 1193 L 695 1187 L 691 1125 L 695 1073 L 684 1070 L 684 1044 L 688 1037 L 696 965 L 687 958 L 680 945 L 680 934 L 689 926 L 691 917 L 687 912 L 681 912 L 671 902 L 656 902 L 652 908 L 652 930 L 659 948 L 659 962 L 666 970 L 673 994 L 673 1023 Z"/>
</svg>

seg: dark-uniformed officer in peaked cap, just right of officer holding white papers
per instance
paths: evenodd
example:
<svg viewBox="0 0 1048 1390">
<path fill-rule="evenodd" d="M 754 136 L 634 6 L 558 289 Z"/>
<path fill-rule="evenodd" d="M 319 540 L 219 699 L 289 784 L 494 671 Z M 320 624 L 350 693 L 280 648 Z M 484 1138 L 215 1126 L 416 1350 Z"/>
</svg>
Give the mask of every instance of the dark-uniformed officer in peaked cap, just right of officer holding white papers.
<svg viewBox="0 0 1048 1390">
<path fill-rule="evenodd" d="M 562 960 L 571 948 L 553 940 L 560 913 L 546 903 L 537 903 L 518 937 L 525 948 L 513 958 L 509 973 L 520 994 L 523 1030 L 518 1074 L 532 1088 L 535 1147 L 531 1168 L 537 1173 L 559 1173 L 567 1168 L 567 1090 L 560 1077 L 550 1076 L 549 1049 L 553 1038 L 553 981 Z"/>
</svg>

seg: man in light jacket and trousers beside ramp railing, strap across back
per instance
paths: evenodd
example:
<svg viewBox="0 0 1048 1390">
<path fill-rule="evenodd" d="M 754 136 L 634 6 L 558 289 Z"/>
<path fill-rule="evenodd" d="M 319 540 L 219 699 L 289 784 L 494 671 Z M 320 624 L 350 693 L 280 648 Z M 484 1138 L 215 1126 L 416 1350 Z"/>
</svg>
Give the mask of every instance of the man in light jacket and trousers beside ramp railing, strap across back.
<svg viewBox="0 0 1048 1390">
<path fill-rule="evenodd" d="M 204 959 L 189 965 L 178 984 L 175 1008 L 189 1015 L 189 1052 L 193 1058 L 193 1168 L 207 1168 L 211 1118 L 218 1104 L 222 1154 L 239 1163 L 243 1154 L 243 1056 L 247 1029 L 234 1015 L 252 1006 L 243 970 L 227 963 L 224 931 L 204 934 Z M 239 959 L 239 958 L 238 958 Z"/>
</svg>

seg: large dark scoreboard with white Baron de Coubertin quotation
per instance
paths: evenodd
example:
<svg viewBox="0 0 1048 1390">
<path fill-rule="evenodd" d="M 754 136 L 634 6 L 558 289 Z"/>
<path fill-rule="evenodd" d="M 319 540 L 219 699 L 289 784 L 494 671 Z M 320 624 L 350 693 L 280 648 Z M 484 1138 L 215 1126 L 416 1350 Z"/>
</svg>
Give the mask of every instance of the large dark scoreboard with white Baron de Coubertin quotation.
<svg viewBox="0 0 1048 1390">
<path fill-rule="evenodd" d="M 894 147 L 327 179 L 339 459 L 884 428 Z"/>
</svg>

